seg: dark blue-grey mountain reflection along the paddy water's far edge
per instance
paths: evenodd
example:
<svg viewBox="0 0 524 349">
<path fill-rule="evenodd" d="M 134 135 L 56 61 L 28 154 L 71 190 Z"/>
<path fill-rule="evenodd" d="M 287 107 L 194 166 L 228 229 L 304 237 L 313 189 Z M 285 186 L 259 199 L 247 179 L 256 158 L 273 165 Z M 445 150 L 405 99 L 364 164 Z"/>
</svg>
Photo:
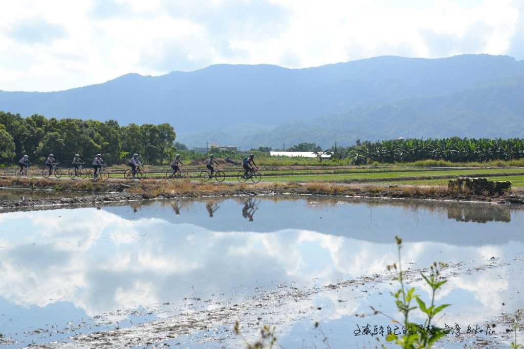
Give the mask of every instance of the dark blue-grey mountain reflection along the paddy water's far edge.
<svg viewBox="0 0 524 349">
<path fill-rule="evenodd" d="M 202 210 L 202 203 L 205 210 Z M 171 207 L 174 215 L 166 207 Z M 155 216 L 172 223 L 198 221 L 206 229 L 219 231 L 307 229 L 382 243 L 390 242 L 389 234 L 385 232 L 396 231 L 408 241 L 455 244 L 508 241 L 509 236 L 495 234 L 490 224 L 509 223 L 512 216 L 519 216 L 522 212 L 516 207 L 490 204 L 288 196 L 144 201 L 135 204 L 133 212 L 128 206 L 104 209 L 127 219 Z M 236 216 L 235 211 L 241 213 L 242 219 Z M 206 220 L 205 216 L 212 219 Z M 486 226 L 472 231 L 472 226 L 455 226 L 452 221 L 485 223 Z M 254 222 L 257 224 L 246 224 Z M 448 227 L 453 227 L 453 231 Z M 511 239 L 523 239 L 516 229 L 508 228 Z"/>
</svg>

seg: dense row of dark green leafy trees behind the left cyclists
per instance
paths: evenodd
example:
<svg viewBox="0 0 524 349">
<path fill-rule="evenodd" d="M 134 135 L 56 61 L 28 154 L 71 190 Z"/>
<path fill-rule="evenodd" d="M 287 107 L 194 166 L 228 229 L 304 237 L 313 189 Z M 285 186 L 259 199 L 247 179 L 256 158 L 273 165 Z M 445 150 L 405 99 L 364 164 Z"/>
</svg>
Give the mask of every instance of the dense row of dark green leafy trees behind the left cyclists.
<svg viewBox="0 0 524 349">
<path fill-rule="evenodd" d="M 176 152 L 175 138 L 169 123 L 120 126 L 115 120 L 48 119 L 38 114 L 24 118 L 0 111 L 0 164 L 15 163 L 24 154 L 38 163 L 50 153 L 59 162 L 70 161 L 76 153 L 87 162 L 101 153 L 107 163 L 120 164 L 138 153 L 143 162 L 162 163 Z"/>
</svg>

